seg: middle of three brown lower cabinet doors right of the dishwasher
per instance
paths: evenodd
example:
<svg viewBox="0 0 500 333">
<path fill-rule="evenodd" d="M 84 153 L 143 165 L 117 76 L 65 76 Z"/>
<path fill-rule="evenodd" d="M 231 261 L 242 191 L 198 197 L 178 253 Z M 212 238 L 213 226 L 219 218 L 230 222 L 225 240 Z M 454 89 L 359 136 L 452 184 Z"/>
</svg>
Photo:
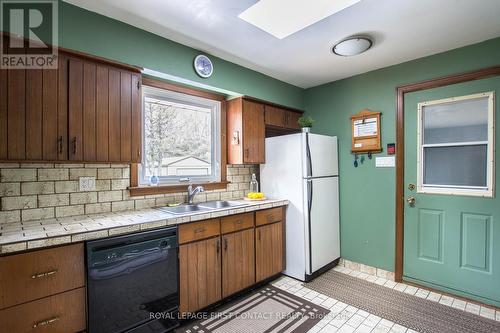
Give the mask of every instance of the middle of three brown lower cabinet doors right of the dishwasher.
<svg viewBox="0 0 500 333">
<path fill-rule="evenodd" d="M 222 236 L 222 297 L 255 283 L 254 229 Z"/>
</svg>

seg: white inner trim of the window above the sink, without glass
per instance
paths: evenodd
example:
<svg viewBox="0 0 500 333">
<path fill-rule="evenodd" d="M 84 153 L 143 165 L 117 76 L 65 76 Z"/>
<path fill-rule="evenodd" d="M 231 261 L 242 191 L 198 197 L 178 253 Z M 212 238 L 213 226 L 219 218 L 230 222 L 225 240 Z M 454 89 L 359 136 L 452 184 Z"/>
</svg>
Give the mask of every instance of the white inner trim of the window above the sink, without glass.
<svg viewBox="0 0 500 333">
<path fill-rule="evenodd" d="M 142 87 L 142 112 L 141 112 L 141 126 L 142 126 L 142 161 L 138 168 L 139 172 L 139 185 L 150 185 L 149 179 L 146 179 L 144 175 L 145 168 L 145 122 L 144 122 L 144 103 L 146 96 L 153 96 L 157 98 L 166 98 L 174 101 L 179 101 L 182 103 L 198 104 L 203 107 L 209 107 L 212 109 L 212 174 L 209 176 L 173 176 L 173 177 L 159 177 L 159 185 L 179 185 L 179 184 L 189 184 L 189 183 L 209 183 L 209 182 L 220 182 L 221 181 L 221 102 L 217 100 L 212 100 L 208 98 L 203 98 L 199 96 L 193 96 L 188 94 L 183 94 L 180 92 L 175 92 L 171 90 L 143 86 Z"/>
</svg>

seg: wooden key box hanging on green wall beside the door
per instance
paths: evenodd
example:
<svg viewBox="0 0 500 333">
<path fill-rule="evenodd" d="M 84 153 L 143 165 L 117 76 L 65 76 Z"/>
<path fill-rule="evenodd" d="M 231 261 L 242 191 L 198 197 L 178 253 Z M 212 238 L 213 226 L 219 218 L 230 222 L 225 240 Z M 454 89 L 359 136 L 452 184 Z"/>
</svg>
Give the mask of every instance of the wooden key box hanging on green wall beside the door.
<svg viewBox="0 0 500 333">
<path fill-rule="evenodd" d="M 380 112 L 364 109 L 351 116 L 351 151 L 353 153 L 378 153 L 382 151 L 380 115 Z"/>
</svg>

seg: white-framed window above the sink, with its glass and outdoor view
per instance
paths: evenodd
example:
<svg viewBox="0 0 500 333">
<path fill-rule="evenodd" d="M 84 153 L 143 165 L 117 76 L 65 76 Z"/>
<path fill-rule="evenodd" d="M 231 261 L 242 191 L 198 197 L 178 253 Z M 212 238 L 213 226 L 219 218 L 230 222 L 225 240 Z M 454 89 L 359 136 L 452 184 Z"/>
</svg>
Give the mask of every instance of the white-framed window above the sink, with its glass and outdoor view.
<svg viewBox="0 0 500 333">
<path fill-rule="evenodd" d="M 221 102 L 143 86 L 139 180 L 160 185 L 221 180 Z"/>
</svg>

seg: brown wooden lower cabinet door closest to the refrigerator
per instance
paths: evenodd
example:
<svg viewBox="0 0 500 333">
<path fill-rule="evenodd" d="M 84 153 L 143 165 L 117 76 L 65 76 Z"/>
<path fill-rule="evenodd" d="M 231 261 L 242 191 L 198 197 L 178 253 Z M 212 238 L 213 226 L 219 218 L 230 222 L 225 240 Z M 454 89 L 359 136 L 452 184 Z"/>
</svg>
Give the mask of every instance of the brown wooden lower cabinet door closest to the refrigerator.
<svg viewBox="0 0 500 333">
<path fill-rule="evenodd" d="M 283 222 L 255 229 L 255 275 L 262 281 L 283 270 Z"/>
</svg>

